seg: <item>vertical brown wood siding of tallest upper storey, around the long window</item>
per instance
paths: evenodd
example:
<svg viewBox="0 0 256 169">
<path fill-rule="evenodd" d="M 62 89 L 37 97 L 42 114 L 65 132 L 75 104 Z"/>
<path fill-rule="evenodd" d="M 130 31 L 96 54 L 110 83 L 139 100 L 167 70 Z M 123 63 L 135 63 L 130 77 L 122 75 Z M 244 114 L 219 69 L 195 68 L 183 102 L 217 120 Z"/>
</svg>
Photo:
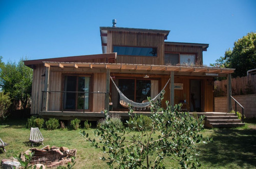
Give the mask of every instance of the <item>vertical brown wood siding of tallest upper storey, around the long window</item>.
<svg viewBox="0 0 256 169">
<path fill-rule="evenodd" d="M 164 57 L 164 36 L 158 34 L 108 32 L 108 52 L 113 46 L 157 47 L 157 57 L 118 55 L 116 63 L 161 65 Z"/>
</svg>

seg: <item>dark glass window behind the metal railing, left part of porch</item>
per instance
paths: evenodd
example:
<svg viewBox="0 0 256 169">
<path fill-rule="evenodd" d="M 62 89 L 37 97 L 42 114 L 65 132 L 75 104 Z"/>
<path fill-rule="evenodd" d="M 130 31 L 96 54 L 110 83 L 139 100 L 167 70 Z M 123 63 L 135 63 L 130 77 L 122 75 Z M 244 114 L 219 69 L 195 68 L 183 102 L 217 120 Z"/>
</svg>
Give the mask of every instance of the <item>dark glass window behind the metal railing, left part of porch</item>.
<svg viewBox="0 0 256 169">
<path fill-rule="evenodd" d="M 64 82 L 64 109 L 89 109 L 90 77 L 65 76 Z"/>
</svg>

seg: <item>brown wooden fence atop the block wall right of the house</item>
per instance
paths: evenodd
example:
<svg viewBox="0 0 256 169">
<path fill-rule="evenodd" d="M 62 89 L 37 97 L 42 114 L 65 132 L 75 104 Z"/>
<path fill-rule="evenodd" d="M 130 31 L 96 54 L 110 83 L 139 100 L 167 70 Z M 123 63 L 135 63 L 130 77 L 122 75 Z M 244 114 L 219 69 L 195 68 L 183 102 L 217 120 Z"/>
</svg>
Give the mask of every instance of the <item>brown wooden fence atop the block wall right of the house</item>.
<svg viewBox="0 0 256 169">
<path fill-rule="evenodd" d="M 231 80 L 232 96 L 256 93 L 256 75 L 236 77 Z M 215 97 L 227 96 L 227 80 L 214 82 Z"/>
</svg>

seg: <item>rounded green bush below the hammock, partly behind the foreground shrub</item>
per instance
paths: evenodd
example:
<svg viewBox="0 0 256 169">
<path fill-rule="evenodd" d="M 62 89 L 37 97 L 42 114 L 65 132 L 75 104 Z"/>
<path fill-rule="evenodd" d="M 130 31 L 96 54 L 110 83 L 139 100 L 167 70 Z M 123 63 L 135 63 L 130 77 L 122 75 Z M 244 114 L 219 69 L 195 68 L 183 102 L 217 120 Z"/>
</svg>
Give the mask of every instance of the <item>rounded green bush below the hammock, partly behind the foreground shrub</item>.
<svg viewBox="0 0 256 169">
<path fill-rule="evenodd" d="M 139 115 L 133 118 L 130 117 L 127 124 L 132 130 L 149 130 L 152 127 L 152 120 L 145 115 Z"/>
</svg>

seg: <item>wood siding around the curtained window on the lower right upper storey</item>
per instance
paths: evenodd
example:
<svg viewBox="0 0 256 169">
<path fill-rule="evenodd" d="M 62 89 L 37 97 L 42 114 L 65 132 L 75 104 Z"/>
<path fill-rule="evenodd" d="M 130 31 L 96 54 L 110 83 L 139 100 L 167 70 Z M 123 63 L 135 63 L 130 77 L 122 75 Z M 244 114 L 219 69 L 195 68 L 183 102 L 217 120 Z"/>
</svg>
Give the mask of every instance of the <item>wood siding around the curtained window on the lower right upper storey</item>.
<svg viewBox="0 0 256 169">
<path fill-rule="evenodd" d="M 166 53 L 189 53 L 189 54 L 196 54 L 196 61 L 203 64 L 203 49 L 199 46 L 185 46 L 185 45 L 164 45 L 164 51 Z M 163 63 L 164 64 L 164 63 Z"/>
</svg>

